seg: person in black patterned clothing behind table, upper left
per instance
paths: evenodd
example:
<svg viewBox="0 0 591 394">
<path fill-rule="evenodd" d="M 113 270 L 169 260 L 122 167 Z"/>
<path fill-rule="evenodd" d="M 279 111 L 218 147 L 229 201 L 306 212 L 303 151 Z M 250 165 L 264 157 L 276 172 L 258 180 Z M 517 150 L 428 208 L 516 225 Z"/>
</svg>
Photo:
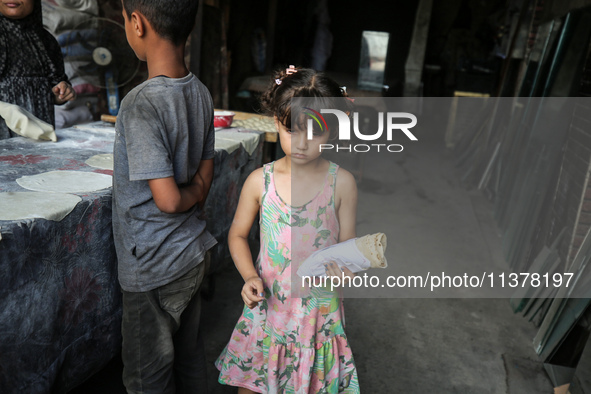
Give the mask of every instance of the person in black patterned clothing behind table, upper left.
<svg viewBox="0 0 591 394">
<path fill-rule="evenodd" d="M 74 100 L 64 60 L 43 28 L 41 0 L 0 0 L 0 101 L 55 125 L 53 104 Z M 15 134 L 0 118 L 0 140 Z"/>
</svg>

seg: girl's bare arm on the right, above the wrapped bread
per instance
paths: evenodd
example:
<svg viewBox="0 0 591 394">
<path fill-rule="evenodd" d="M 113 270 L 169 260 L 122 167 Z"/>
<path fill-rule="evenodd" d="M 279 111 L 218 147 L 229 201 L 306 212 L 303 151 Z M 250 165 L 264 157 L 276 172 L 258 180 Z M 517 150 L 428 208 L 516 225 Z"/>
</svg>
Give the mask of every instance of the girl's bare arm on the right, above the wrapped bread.
<svg viewBox="0 0 591 394">
<path fill-rule="evenodd" d="M 339 221 L 339 242 L 355 238 L 357 220 L 357 184 L 353 175 L 339 168 L 336 190 L 337 219 Z"/>
</svg>

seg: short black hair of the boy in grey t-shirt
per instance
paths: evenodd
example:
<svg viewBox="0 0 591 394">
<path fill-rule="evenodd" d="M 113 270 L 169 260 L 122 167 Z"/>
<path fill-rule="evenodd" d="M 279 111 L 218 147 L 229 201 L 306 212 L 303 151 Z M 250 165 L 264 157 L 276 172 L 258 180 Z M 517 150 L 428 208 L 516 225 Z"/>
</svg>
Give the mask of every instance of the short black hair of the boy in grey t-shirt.
<svg viewBox="0 0 591 394">
<path fill-rule="evenodd" d="M 199 0 L 123 0 L 123 7 L 127 18 L 139 11 L 160 37 L 178 46 L 195 26 Z"/>
</svg>

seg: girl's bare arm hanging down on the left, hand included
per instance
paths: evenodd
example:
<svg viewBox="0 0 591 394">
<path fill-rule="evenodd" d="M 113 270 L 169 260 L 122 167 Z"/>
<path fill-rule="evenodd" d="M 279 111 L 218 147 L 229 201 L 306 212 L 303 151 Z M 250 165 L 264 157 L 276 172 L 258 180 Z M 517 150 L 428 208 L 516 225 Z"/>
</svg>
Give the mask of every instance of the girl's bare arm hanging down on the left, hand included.
<svg viewBox="0 0 591 394">
<path fill-rule="evenodd" d="M 249 308 L 254 308 L 264 299 L 263 281 L 254 268 L 248 246 L 248 234 L 259 212 L 263 189 L 263 169 L 259 168 L 250 174 L 242 187 L 240 201 L 228 233 L 230 255 L 244 279 L 242 299 Z"/>
</svg>

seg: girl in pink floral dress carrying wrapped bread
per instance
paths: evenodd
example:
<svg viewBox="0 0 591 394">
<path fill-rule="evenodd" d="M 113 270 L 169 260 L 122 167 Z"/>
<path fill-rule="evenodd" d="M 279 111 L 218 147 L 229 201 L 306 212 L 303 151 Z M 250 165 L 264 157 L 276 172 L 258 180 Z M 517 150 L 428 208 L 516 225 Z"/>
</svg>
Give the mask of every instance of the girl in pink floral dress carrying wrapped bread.
<svg viewBox="0 0 591 394">
<path fill-rule="evenodd" d="M 303 127 L 292 129 L 292 120 L 304 122 L 292 112 L 291 99 L 348 103 L 338 99 L 344 96 L 334 81 L 311 69 L 282 72 L 263 95 L 285 157 L 248 177 L 228 236 L 245 281 L 246 306 L 216 366 L 219 382 L 238 386 L 239 393 L 359 392 L 342 302 L 335 293 L 296 298 L 291 290 L 297 270 L 292 259 L 302 262 L 317 249 L 354 238 L 357 207 L 353 176 L 321 157 L 319 146 L 329 132 L 316 130 L 308 140 Z M 255 266 L 247 239 L 257 213 L 261 248 Z M 330 263 L 327 274 L 341 272 Z"/>
</svg>

